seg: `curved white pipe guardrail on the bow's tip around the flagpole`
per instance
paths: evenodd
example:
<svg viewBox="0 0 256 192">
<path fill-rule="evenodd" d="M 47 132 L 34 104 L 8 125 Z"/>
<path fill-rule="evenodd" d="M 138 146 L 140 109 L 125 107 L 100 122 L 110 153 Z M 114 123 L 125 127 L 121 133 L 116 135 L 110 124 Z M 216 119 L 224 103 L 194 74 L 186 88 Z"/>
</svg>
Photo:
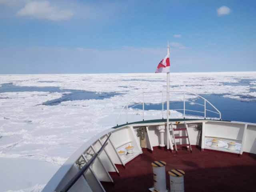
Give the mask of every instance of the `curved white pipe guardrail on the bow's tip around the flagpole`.
<svg viewBox="0 0 256 192">
<path fill-rule="evenodd" d="M 186 111 L 191 111 L 191 112 L 198 112 L 198 113 L 203 113 L 204 114 L 204 119 L 207 118 L 206 116 L 206 112 L 213 112 L 215 114 L 218 114 L 219 115 L 219 119 L 221 120 L 221 112 L 211 103 L 209 102 L 206 98 L 198 95 L 198 94 L 195 94 L 195 93 L 192 93 L 190 91 L 182 91 L 182 90 L 177 90 L 177 91 L 170 91 L 171 93 L 173 92 L 178 92 L 178 93 L 183 93 L 183 109 L 173 109 L 173 110 L 183 110 L 183 117 L 185 118 L 186 117 Z M 169 94 L 170 94 L 169 92 Z M 120 115 L 122 114 L 122 112 L 124 111 L 124 109 L 126 108 L 126 118 L 127 118 L 127 113 L 128 113 L 128 105 L 131 103 L 132 100 L 134 100 L 134 98 L 142 95 L 142 102 L 139 102 L 139 103 L 136 103 L 135 105 L 129 107 L 129 108 L 133 108 L 134 106 L 137 106 L 137 105 L 140 105 L 142 104 L 142 120 L 144 120 L 144 94 L 149 94 L 149 93 L 162 93 L 162 100 L 160 101 L 160 103 L 162 102 L 162 118 L 164 118 L 164 103 L 166 103 L 166 101 L 164 101 L 164 96 L 163 96 L 163 91 L 152 91 L 152 92 L 141 92 L 139 94 L 136 94 L 134 95 L 130 100 L 128 100 L 128 102 L 123 106 L 122 110 L 120 111 L 120 113 L 118 114 L 118 118 L 116 120 L 116 124 L 118 125 L 118 120 L 120 118 Z M 191 95 L 195 95 L 197 96 L 198 98 L 201 98 L 202 100 L 204 100 L 204 104 L 200 104 L 200 103 L 196 103 L 196 102 L 192 102 L 192 101 L 186 101 L 186 98 L 185 98 L 185 94 L 191 94 Z M 189 103 L 194 103 L 194 104 L 198 104 L 200 106 L 204 106 L 204 111 L 197 111 L 197 110 L 188 110 L 186 109 L 186 102 L 189 102 Z M 208 110 L 206 109 L 206 103 L 208 103 L 210 106 L 212 106 L 212 108 L 214 108 L 214 110 L 216 110 L 216 112 L 212 111 L 212 110 Z M 126 123 L 128 123 L 127 119 L 126 119 Z"/>
</svg>

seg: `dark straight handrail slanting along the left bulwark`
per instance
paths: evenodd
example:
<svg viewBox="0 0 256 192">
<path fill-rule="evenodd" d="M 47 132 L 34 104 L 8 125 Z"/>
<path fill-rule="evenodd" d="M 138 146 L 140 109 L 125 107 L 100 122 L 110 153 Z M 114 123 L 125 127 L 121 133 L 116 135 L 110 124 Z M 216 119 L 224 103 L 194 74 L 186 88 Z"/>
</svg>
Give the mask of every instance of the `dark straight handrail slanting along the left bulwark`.
<svg viewBox="0 0 256 192">
<path fill-rule="evenodd" d="M 86 172 L 86 170 L 88 170 L 88 168 L 90 167 L 90 165 L 94 162 L 94 160 L 96 159 L 96 157 L 100 154 L 100 152 L 102 152 L 102 150 L 105 148 L 108 139 L 110 138 L 111 132 L 108 136 L 108 138 L 106 139 L 106 141 L 104 142 L 104 144 L 102 145 L 102 147 L 100 148 L 100 150 L 98 150 L 98 152 L 96 152 L 94 154 L 94 156 L 88 161 L 88 163 L 86 165 L 84 165 L 82 167 L 82 169 L 79 170 L 79 172 L 68 182 L 68 184 L 66 184 L 66 186 L 60 191 L 60 192 L 67 192 L 75 183 L 76 181 L 80 178 L 80 176 L 82 176 L 82 174 L 84 174 L 84 172 Z"/>
</svg>

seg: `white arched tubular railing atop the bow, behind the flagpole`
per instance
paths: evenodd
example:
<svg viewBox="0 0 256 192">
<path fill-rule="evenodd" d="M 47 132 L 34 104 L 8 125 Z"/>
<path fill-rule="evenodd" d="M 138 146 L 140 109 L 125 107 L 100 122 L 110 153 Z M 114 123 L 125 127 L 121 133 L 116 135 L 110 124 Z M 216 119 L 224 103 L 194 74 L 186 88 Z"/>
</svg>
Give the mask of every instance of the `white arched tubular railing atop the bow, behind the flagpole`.
<svg viewBox="0 0 256 192">
<path fill-rule="evenodd" d="M 204 98 L 204 97 L 202 97 L 202 96 L 200 96 L 200 95 L 198 95 L 198 94 L 189 92 L 189 91 L 170 91 L 170 93 L 174 93 L 174 92 L 183 94 L 183 101 L 182 101 L 182 102 L 183 102 L 183 108 L 182 108 L 182 109 L 172 109 L 172 108 L 170 108 L 170 110 L 182 111 L 182 112 L 183 112 L 183 118 L 186 118 L 186 116 L 191 116 L 191 115 L 186 114 L 186 111 L 189 111 L 189 112 L 197 112 L 197 113 L 199 113 L 199 114 L 204 114 L 204 115 L 202 116 L 202 117 L 204 117 L 204 119 L 206 119 L 206 118 L 211 118 L 211 117 L 208 117 L 208 116 L 207 116 L 207 112 L 212 112 L 212 113 L 214 113 L 214 114 L 218 114 L 218 116 L 219 116 L 218 118 L 221 120 L 221 112 L 220 112 L 211 102 L 209 102 L 206 98 Z M 128 120 L 127 120 L 128 109 L 129 109 L 129 108 L 134 108 L 135 106 L 138 106 L 138 105 L 142 105 L 142 120 L 144 121 L 144 111 L 145 111 L 145 109 L 144 109 L 144 104 L 145 104 L 145 102 L 144 102 L 144 94 L 153 94 L 153 93 L 161 93 L 161 94 L 162 94 L 162 100 L 161 100 L 160 102 L 158 102 L 158 104 L 159 104 L 159 103 L 162 103 L 162 118 L 164 118 L 164 111 L 166 111 L 166 110 L 164 110 L 164 104 L 166 103 L 166 100 L 164 100 L 164 92 L 163 92 L 163 91 L 161 91 L 161 92 L 159 92 L 159 91 L 158 91 L 158 92 L 142 92 L 142 93 L 140 93 L 140 94 L 134 95 L 134 96 L 123 106 L 121 112 L 118 114 L 118 118 L 117 118 L 117 120 L 116 120 L 116 124 L 118 124 L 118 120 L 119 120 L 121 114 L 124 112 L 124 110 L 125 110 L 125 114 L 126 114 L 126 123 L 128 123 Z M 169 94 L 170 94 L 170 93 L 169 93 Z M 194 95 L 194 96 L 196 96 L 197 98 L 201 98 L 202 100 L 204 100 L 204 104 L 200 104 L 200 103 L 192 102 L 192 101 L 190 101 L 190 100 L 186 100 L 186 94 Z M 134 103 L 134 102 L 132 102 L 132 100 L 134 100 L 134 98 L 138 98 L 139 96 L 142 96 L 142 102 L 137 102 L 137 103 L 134 104 L 133 106 L 130 106 L 130 107 L 129 107 L 129 104 Z M 176 102 L 176 100 L 175 100 L 175 102 Z M 177 102 L 181 102 L 181 101 L 177 100 Z M 186 102 L 203 106 L 203 107 L 204 107 L 204 111 L 186 109 Z M 170 103 L 171 103 L 171 102 L 170 102 Z M 213 108 L 215 111 L 212 111 L 212 110 L 207 109 L 207 108 L 206 108 L 206 103 L 208 103 L 210 106 L 212 106 L 212 108 Z"/>
</svg>

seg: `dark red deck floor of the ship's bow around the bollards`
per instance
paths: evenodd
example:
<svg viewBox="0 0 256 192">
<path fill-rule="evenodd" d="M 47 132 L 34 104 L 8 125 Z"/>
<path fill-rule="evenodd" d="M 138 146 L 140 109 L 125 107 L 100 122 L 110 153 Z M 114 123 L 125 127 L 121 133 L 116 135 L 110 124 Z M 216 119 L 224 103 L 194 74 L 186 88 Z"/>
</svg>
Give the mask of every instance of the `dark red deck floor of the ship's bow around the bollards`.
<svg viewBox="0 0 256 192">
<path fill-rule="evenodd" d="M 149 192 L 153 186 L 151 162 L 165 161 L 166 183 L 170 188 L 168 170 L 181 169 L 186 172 L 186 192 L 256 192 L 256 156 L 204 150 L 193 146 L 193 152 L 178 154 L 154 148 L 153 153 L 143 149 L 143 154 L 123 166 L 118 165 L 119 174 L 110 173 L 114 184 L 102 182 L 106 192 Z"/>
</svg>

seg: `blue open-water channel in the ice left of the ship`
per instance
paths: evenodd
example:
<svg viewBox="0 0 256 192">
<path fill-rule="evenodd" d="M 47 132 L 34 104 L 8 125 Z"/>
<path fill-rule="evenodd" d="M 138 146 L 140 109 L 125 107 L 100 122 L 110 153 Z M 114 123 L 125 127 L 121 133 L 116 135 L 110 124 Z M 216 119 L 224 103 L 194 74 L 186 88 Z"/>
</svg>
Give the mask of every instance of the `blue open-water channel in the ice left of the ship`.
<svg viewBox="0 0 256 192">
<path fill-rule="evenodd" d="M 71 92 L 68 94 L 63 94 L 61 98 L 49 100 L 42 103 L 43 105 L 58 105 L 64 101 L 74 101 L 74 100 L 89 100 L 89 99 L 105 99 L 111 98 L 120 93 L 116 92 L 91 92 L 83 90 L 74 90 L 74 89 L 60 89 L 59 87 L 36 87 L 36 86 L 16 86 L 12 83 L 2 84 L 0 86 L 0 93 L 3 92 Z"/>
</svg>

